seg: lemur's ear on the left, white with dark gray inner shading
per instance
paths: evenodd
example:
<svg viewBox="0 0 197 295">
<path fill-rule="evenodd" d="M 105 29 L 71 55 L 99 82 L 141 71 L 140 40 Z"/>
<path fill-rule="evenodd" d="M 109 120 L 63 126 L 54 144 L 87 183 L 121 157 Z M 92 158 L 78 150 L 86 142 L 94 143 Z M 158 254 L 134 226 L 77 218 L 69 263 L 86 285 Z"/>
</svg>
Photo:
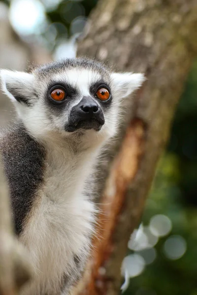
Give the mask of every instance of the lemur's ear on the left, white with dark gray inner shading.
<svg viewBox="0 0 197 295">
<path fill-rule="evenodd" d="M 12 100 L 30 104 L 33 75 L 25 72 L 0 70 L 2 90 Z"/>
</svg>

